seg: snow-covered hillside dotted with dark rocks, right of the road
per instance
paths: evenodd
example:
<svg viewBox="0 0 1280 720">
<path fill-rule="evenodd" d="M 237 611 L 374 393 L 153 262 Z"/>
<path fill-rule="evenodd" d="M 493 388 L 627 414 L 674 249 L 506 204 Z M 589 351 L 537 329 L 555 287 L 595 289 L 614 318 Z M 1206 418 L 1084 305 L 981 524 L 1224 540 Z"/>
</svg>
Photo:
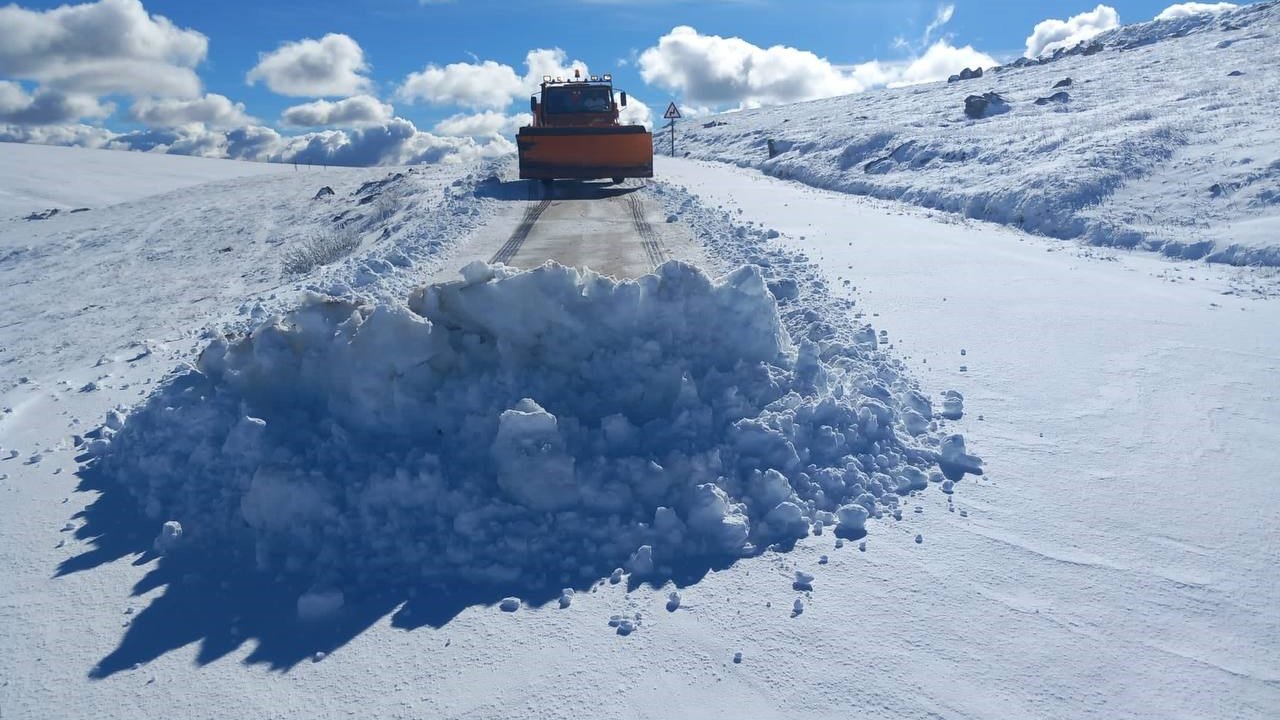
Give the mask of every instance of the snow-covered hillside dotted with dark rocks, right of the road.
<svg viewBox="0 0 1280 720">
<path fill-rule="evenodd" d="M 987 92 L 1009 111 L 968 117 Z M 1280 265 L 1276 108 L 1280 4 L 1260 3 L 975 79 L 689 122 L 677 151 L 1052 237 Z"/>
</svg>

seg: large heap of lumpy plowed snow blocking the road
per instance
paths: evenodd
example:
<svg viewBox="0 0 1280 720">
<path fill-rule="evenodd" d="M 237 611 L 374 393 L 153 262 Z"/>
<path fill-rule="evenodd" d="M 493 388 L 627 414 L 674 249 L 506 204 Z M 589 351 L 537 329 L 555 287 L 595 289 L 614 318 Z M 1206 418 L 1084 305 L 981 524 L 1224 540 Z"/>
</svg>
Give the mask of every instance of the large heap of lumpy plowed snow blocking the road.
<svg viewBox="0 0 1280 720">
<path fill-rule="evenodd" d="M 215 341 L 97 446 L 175 551 L 346 589 L 540 585 L 788 546 L 980 471 L 876 348 L 796 347 L 755 266 L 472 264 Z M 947 483 L 950 488 L 950 483 Z"/>
</svg>

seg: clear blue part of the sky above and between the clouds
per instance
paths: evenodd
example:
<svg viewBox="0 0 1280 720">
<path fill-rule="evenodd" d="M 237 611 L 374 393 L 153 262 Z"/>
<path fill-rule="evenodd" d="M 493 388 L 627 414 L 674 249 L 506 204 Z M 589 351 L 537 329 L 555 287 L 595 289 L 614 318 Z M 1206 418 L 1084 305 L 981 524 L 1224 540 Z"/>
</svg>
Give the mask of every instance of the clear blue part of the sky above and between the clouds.
<svg viewBox="0 0 1280 720">
<path fill-rule="evenodd" d="M 51 8 L 61 3 L 22 3 Z M 1123 22 L 1151 19 L 1171 0 L 1107 3 Z M 1044 18 L 1066 18 L 1094 6 L 1084 1 L 964 0 L 946 32 L 955 42 L 973 45 L 997 59 L 1023 54 L 1028 33 Z M 652 1 L 579 0 L 312 0 L 274 1 L 151 0 L 147 10 L 210 37 L 201 76 L 211 92 L 246 102 L 251 111 L 274 118 L 292 101 L 262 86 L 250 87 L 244 73 L 260 51 L 285 41 L 342 32 L 355 38 L 372 65 L 384 95 L 410 72 L 428 63 L 497 60 L 520 69 L 534 47 L 561 47 L 594 72 L 612 72 L 614 82 L 649 104 L 671 100 L 669 92 L 645 87 L 631 63 L 635 55 L 676 26 L 739 36 L 755 45 L 790 45 L 810 50 L 835 64 L 910 56 L 893 40 L 918 40 L 940 3 L 876 0 Z M 532 90 L 532 88 L 531 88 Z M 451 114 L 430 105 L 397 105 L 401 117 L 429 127 Z"/>
</svg>

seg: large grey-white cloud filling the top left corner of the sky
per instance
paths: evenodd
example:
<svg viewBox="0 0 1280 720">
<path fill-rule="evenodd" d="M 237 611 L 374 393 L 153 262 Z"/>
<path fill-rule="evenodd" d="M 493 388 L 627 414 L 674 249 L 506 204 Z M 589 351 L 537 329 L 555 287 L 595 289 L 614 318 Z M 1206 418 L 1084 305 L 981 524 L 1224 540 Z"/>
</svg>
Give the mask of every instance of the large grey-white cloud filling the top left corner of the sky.
<svg viewBox="0 0 1280 720">
<path fill-rule="evenodd" d="M 209 38 L 138 0 L 0 8 L 0 76 L 86 95 L 195 97 Z"/>
</svg>

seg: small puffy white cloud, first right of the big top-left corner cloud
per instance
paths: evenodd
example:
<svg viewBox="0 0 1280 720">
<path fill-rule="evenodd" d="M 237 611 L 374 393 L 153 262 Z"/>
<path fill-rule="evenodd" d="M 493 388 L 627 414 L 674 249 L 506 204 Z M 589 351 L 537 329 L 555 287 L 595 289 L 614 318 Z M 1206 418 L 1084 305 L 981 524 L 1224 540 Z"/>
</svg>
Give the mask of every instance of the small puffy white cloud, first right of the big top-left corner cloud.
<svg viewBox="0 0 1280 720">
<path fill-rule="evenodd" d="M 285 42 L 259 55 L 257 65 L 244 77 L 266 83 L 273 92 L 292 97 L 349 96 L 365 92 L 365 51 L 347 35 L 330 32 L 320 40 Z"/>
</svg>

